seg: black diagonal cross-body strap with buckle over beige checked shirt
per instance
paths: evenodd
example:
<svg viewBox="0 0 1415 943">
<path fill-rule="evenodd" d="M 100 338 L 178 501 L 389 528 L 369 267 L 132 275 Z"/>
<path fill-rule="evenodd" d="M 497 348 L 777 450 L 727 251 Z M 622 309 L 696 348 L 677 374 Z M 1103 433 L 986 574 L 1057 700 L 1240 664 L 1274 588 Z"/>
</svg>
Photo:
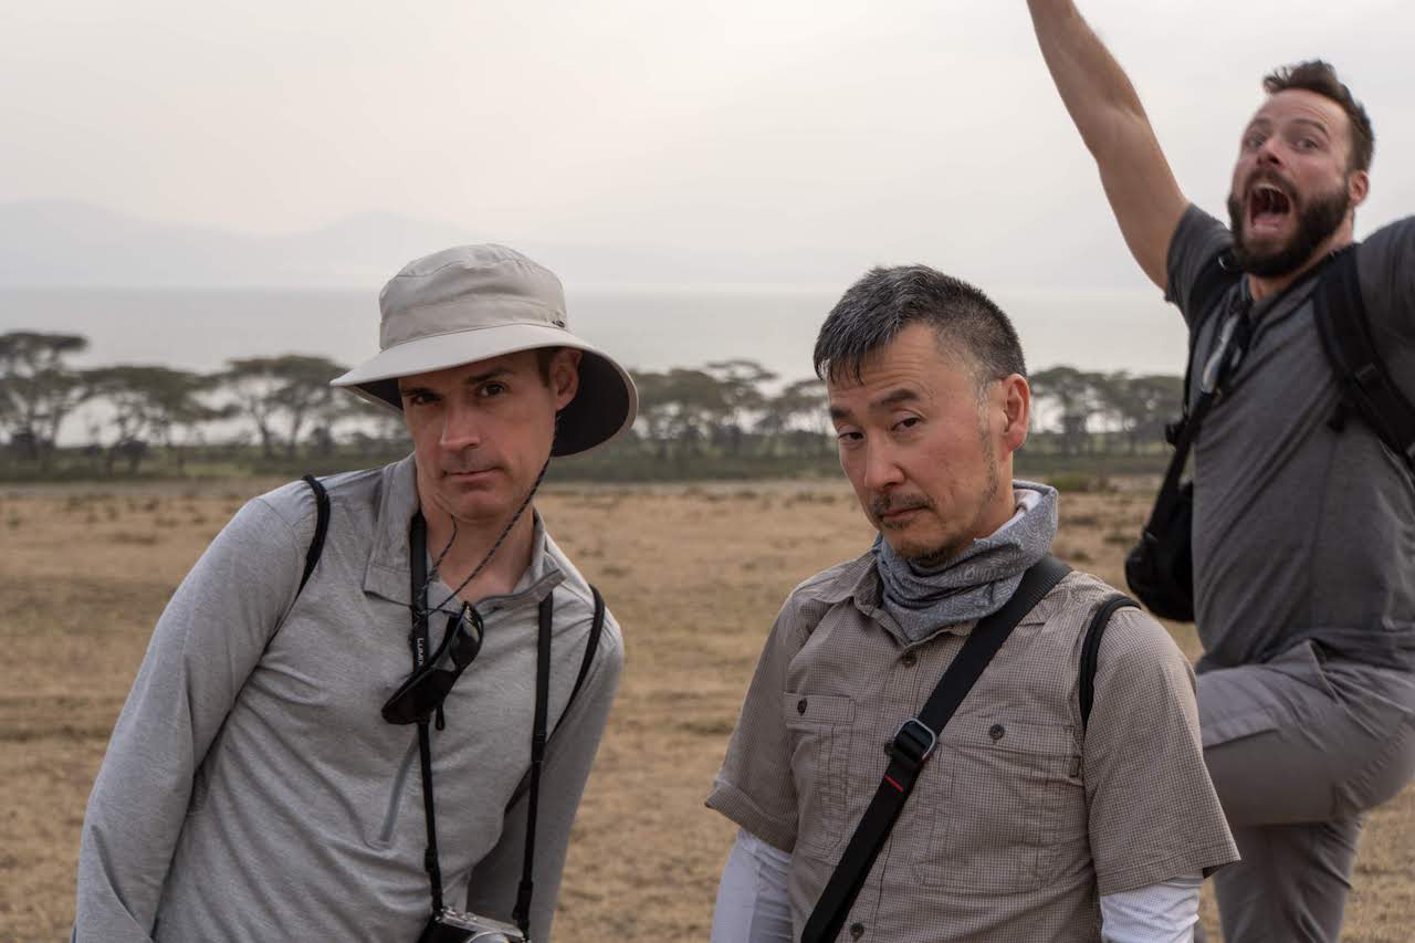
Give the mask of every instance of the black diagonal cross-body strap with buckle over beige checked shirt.
<svg viewBox="0 0 1415 943">
<path fill-rule="evenodd" d="M 938 687 L 928 695 L 918 716 L 900 724 L 890 746 L 889 766 L 884 779 L 874 790 L 865 816 L 860 817 L 850 842 L 841 855 L 841 862 L 821 892 L 811 918 L 801 933 L 801 943 L 829 943 L 841 933 L 846 915 L 855 905 L 855 898 L 865 885 L 865 878 L 874 867 L 874 858 L 889 838 L 894 821 L 908 800 L 924 763 L 938 745 L 938 733 L 962 704 L 983 668 L 998 654 L 1022 619 L 1032 612 L 1051 588 L 1071 572 L 1071 568 L 1056 556 L 1044 556 L 1022 578 L 1022 585 L 1007 603 L 978 622 L 964 641 L 962 650 L 944 671 Z"/>
</svg>

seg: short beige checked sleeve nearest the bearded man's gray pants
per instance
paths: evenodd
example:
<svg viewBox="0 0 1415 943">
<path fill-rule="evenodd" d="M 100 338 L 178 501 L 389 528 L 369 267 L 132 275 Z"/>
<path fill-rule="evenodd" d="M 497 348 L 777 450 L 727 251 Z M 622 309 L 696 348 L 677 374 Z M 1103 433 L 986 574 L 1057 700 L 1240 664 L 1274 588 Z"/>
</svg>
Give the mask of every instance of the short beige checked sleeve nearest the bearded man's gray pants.
<svg viewBox="0 0 1415 943">
<path fill-rule="evenodd" d="M 1204 766 L 1193 668 L 1138 609 L 1116 612 L 1102 637 L 1082 758 L 1102 895 L 1238 859 Z"/>
</svg>

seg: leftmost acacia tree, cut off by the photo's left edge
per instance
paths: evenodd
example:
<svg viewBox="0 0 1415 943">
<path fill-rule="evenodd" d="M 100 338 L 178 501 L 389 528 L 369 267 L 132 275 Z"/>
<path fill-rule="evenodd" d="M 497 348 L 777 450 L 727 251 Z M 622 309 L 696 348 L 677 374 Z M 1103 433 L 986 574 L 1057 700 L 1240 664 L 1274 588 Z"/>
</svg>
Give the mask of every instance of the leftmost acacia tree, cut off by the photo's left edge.
<svg viewBox="0 0 1415 943">
<path fill-rule="evenodd" d="M 88 348 L 79 334 L 0 334 L 0 423 L 27 457 L 50 470 L 59 426 L 88 391 L 67 362 Z"/>
</svg>

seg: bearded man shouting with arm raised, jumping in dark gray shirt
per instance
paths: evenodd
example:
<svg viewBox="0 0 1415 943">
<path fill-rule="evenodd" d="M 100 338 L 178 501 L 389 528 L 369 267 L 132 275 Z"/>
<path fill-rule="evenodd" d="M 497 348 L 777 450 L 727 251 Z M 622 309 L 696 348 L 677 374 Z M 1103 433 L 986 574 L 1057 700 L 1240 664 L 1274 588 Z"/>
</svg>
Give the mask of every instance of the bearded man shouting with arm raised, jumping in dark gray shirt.
<svg viewBox="0 0 1415 943">
<path fill-rule="evenodd" d="M 1180 193 L 1074 4 L 1029 7 L 1126 245 L 1190 326 L 1196 375 L 1224 323 L 1248 336 L 1194 449 L 1204 756 L 1242 854 L 1214 884 L 1230 943 L 1336 940 L 1361 817 L 1415 775 L 1415 480 L 1365 423 L 1332 421 L 1341 389 L 1313 323 L 1320 266 L 1353 246 L 1370 191 L 1371 122 L 1326 62 L 1268 75 L 1225 228 Z M 1350 251 L 1409 396 L 1415 218 Z M 1201 273 L 1224 253 L 1244 275 L 1206 306 Z"/>
</svg>

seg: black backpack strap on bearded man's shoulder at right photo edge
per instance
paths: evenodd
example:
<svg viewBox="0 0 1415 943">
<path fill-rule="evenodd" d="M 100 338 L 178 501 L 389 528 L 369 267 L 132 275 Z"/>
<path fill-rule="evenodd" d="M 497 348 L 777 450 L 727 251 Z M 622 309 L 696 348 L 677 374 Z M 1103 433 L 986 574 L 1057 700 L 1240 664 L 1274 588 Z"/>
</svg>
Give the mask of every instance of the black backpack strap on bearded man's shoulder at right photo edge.
<svg viewBox="0 0 1415 943">
<path fill-rule="evenodd" d="M 1322 273 L 1315 297 L 1317 336 L 1341 385 L 1341 406 L 1332 428 L 1340 430 L 1346 413 L 1354 412 L 1415 471 L 1415 405 L 1381 360 L 1356 265 L 1354 245 L 1337 253 Z"/>
</svg>

